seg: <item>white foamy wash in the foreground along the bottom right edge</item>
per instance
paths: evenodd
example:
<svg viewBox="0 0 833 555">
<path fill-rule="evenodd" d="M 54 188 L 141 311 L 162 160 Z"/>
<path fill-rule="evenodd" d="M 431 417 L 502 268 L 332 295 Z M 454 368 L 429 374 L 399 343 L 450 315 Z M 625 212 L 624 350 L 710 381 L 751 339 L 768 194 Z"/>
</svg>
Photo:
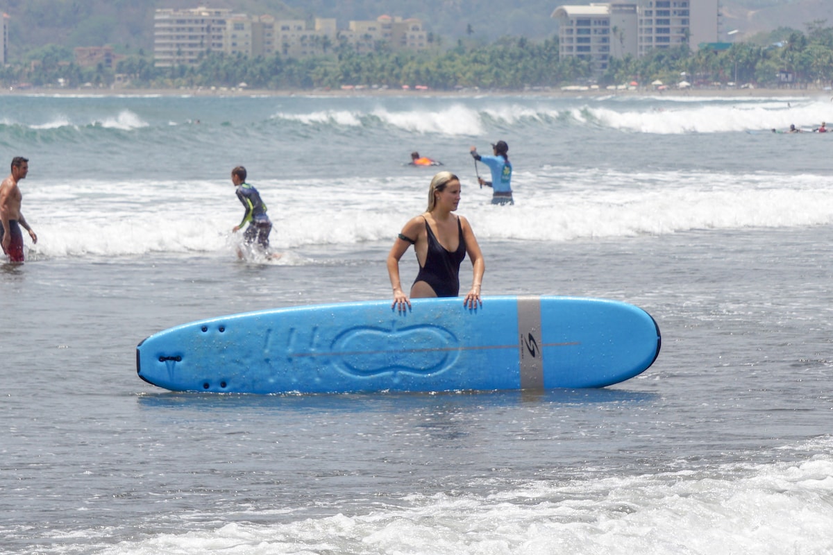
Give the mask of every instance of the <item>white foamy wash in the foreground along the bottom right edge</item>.
<svg viewBox="0 0 833 555">
<path fill-rule="evenodd" d="M 295 522 L 256 509 L 237 522 L 122 541 L 100 553 L 828 553 L 831 475 L 833 460 L 816 456 L 536 481 L 491 494 L 412 494 L 368 513 Z M 270 518 L 282 523 L 263 523 Z"/>
</svg>

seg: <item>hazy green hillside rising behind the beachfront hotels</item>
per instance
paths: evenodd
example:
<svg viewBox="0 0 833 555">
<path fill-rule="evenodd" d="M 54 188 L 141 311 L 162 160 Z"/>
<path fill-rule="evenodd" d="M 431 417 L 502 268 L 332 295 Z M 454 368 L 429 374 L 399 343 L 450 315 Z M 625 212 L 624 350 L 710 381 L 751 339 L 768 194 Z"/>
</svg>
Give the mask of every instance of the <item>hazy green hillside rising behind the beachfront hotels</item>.
<svg viewBox="0 0 833 555">
<path fill-rule="evenodd" d="M 598 2 L 599 0 L 595 0 Z M 692 0 L 696 2 L 696 0 Z M 157 7 L 228 7 L 236 12 L 303 19 L 335 17 L 339 27 L 352 19 L 387 14 L 418 17 L 446 45 L 463 38 L 493 42 L 502 36 L 551 37 L 550 15 L 561 4 L 586 5 L 591 0 L 0 0 L 10 19 L 12 60 L 47 44 L 66 47 L 110 44 L 117 52 L 151 52 L 153 12 Z M 721 0 L 723 32 L 741 37 L 778 27 L 806 31 L 806 24 L 826 20 L 833 27 L 833 0 Z M 742 40 L 742 39 L 741 39 Z"/>
</svg>

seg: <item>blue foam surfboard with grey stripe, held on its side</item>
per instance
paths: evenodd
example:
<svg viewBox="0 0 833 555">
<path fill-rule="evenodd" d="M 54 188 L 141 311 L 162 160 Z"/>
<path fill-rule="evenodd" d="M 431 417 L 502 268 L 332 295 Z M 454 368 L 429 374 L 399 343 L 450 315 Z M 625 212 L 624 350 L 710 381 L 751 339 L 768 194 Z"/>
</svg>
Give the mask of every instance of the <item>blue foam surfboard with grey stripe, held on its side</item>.
<svg viewBox="0 0 833 555">
<path fill-rule="evenodd" d="M 260 310 L 178 325 L 137 346 L 137 372 L 174 391 L 347 393 L 596 388 L 640 374 L 656 322 L 613 300 L 459 297 Z"/>
</svg>

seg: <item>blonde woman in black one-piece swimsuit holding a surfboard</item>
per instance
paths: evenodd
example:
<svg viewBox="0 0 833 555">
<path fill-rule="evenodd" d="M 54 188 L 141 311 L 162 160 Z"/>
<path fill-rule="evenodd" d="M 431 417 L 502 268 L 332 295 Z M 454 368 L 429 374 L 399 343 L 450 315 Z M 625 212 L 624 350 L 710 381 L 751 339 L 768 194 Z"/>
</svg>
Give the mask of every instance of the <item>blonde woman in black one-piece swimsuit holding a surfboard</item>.
<svg viewBox="0 0 833 555">
<path fill-rule="evenodd" d="M 460 293 L 460 264 L 466 253 L 471 260 L 471 289 L 463 305 L 475 309 L 482 305 L 480 286 L 486 264 L 474 231 L 466 218 L 456 216 L 460 203 L 460 180 L 451 171 L 441 171 L 428 187 L 428 208 L 402 228 L 387 255 L 387 274 L 393 287 L 392 308 L 400 312 L 411 308 L 402 290 L 399 260 L 414 245 L 419 273 L 411 286 L 411 298 L 456 297 Z"/>
</svg>

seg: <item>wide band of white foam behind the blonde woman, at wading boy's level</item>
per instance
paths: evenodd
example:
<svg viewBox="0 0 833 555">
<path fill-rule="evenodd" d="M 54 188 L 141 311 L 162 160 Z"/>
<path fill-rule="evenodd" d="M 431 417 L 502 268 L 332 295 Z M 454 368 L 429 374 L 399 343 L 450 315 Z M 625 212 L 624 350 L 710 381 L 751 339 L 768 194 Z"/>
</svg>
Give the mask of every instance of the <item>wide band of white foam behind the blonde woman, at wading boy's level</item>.
<svg viewBox="0 0 833 555">
<path fill-rule="evenodd" d="M 561 175 L 551 180 L 548 172 Z M 491 190 L 464 185 L 459 213 L 480 240 L 566 241 L 686 230 L 795 227 L 833 221 L 833 197 L 817 176 L 658 171 L 640 175 L 557 168 L 520 174 L 516 205 L 492 206 Z M 271 211 L 272 245 L 357 245 L 392 240 L 425 210 L 421 177 L 370 181 L 262 181 L 271 191 L 305 186 L 317 201 L 291 197 Z M 714 186 L 721 183 L 721 186 Z M 367 196 L 389 209 L 368 215 Z M 137 255 L 148 252 L 218 252 L 239 240 L 232 226 L 242 206 L 225 183 L 119 183 L 32 181 L 27 203 L 39 235 L 32 251 L 45 256 Z M 274 207 L 274 205 L 273 205 Z M 43 216 L 41 216 L 41 214 Z"/>
</svg>

